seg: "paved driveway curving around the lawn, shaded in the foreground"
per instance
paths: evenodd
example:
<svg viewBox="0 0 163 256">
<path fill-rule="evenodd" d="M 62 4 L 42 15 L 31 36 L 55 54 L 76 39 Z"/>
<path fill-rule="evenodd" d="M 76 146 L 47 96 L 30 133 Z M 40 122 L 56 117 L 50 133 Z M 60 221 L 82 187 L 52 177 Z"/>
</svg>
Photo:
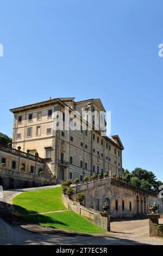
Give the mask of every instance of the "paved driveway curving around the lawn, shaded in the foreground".
<svg viewBox="0 0 163 256">
<path fill-rule="evenodd" d="M 59 186 L 59 185 L 57 185 Z M 26 188 L 23 190 L 5 191 L 4 202 L 8 197 L 22 191 L 35 191 L 56 186 Z M 1 203 L 4 209 L 5 203 Z M 148 220 L 116 220 L 111 222 L 111 232 L 106 236 L 79 235 L 61 230 L 45 229 L 29 231 L 30 225 L 13 225 L 8 212 L 2 214 L 0 207 L 0 245 L 163 245 L 163 239 L 148 236 Z M 7 221 L 6 221 L 7 220 Z M 30 230 L 32 230 L 30 228 Z"/>
</svg>

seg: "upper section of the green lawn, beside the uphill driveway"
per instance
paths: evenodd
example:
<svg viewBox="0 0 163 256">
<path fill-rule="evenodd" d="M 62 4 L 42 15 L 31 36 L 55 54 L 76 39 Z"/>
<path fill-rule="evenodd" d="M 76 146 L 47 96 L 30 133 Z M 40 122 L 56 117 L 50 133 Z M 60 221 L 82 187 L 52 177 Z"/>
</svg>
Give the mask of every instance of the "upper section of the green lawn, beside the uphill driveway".
<svg viewBox="0 0 163 256">
<path fill-rule="evenodd" d="M 55 187 L 49 190 L 22 192 L 12 202 L 21 214 L 34 214 L 44 211 L 57 211 L 66 209 L 61 200 L 62 188 Z"/>
</svg>

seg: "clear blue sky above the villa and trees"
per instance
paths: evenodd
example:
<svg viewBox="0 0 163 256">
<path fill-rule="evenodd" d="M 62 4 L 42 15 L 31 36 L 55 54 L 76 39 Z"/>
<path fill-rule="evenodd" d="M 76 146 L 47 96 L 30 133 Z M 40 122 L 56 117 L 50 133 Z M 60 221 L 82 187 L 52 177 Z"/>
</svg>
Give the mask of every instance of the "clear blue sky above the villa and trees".
<svg viewBox="0 0 163 256">
<path fill-rule="evenodd" d="M 1 1 L 1 127 L 12 136 L 14 108 L 74 96 L 100 97 L 123 167 L 162 176 L 163 2 Z"/>
</svg>

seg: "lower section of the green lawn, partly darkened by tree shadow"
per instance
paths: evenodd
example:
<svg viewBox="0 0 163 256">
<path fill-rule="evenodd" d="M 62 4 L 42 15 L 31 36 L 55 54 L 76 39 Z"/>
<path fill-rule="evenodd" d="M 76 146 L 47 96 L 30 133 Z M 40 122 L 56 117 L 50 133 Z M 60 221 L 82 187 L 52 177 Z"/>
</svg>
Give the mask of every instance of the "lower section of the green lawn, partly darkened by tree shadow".
<svg viewBox="0 0 163 256">
<path fill-rule="evenodd" d="M 23 220 L 46 227 L 77 231 L 80 233 L 105 233 L 106 231 L 87 221 L 73 211 L 23 216 Z"/>
</svg>

